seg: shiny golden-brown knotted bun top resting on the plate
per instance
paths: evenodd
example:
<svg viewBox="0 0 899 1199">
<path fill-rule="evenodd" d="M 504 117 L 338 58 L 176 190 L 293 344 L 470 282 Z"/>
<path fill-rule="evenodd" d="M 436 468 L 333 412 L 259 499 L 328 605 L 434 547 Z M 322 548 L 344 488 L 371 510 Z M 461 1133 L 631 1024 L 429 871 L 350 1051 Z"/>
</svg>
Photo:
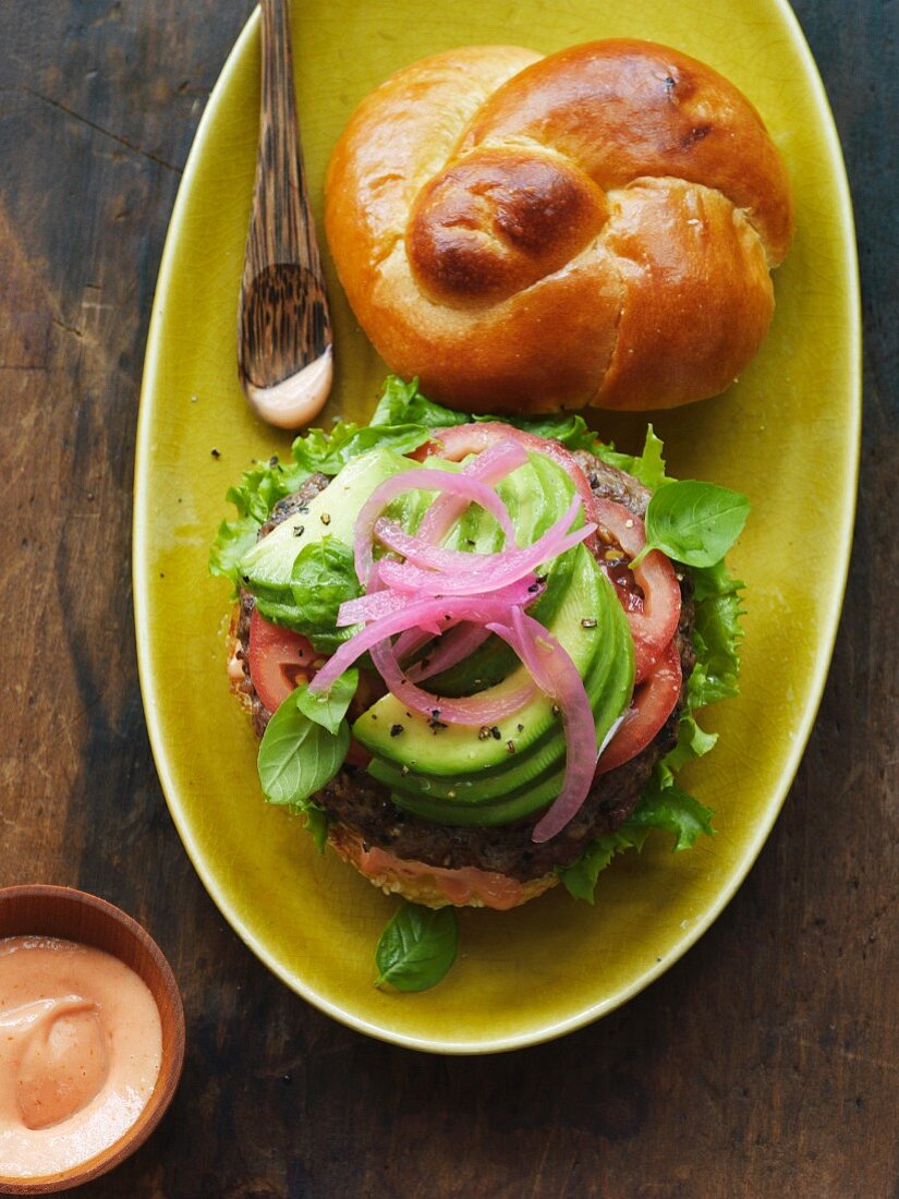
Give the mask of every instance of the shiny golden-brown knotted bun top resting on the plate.
<svg viewBox="0 0 899 1199">
<path fill-rule="evenodd" d="M 758 350 L 792 210 L 732 84 L 607 41 L 400 71 L 334 149 L 326 227 L 360 324 L 432 398 L 664 408 L 724 390 Z"/>
</svg>

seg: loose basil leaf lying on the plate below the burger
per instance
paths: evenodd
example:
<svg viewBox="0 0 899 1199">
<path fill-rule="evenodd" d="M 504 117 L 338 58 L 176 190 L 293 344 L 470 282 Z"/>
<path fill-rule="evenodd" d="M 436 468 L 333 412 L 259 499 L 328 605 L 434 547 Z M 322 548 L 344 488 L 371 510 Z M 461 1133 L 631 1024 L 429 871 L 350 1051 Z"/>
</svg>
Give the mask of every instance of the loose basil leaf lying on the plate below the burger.
<svg viewBox="0 0 899 1199">
<path fill-rule="evenodd" d="M 404 903 L 381 933 L 375 950 L 380 974 L 397 990 L 427 990 L 455 960 L 459 926 L 454 908 L 422 908 Z"/>
</svg>

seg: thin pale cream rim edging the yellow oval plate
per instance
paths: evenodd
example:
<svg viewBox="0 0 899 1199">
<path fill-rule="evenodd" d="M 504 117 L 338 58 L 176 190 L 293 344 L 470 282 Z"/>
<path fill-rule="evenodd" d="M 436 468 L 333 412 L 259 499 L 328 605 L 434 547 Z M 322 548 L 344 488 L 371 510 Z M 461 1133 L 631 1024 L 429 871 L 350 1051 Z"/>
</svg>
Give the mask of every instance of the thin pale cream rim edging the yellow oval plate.
<svg viewBox="0 0 899 1199">
<path fill-rule="evenodd" d="M 826 146 L 827 161 L 833 171 L 835 223 L 841 234 L 840 247 L 843 251 L 841 271 L 846 281 L 846 315 L 851 321 L 849 330 L 849 361 L 847 375 L 851 381 L 851 427 L 845 430 L 847 441 L 847 465 L 850 468 L 850 482 L 852 483 L 850 502 L 845 505 L 843 520 L 839 528 L 839 546 L 843 550 L 841 574 L 834 582 L 838 584 L 831 592 L 831 602 L 826 609 L 827 634 L 819 639 L 817 653 L 811 671 L 811 681 L 808 691 L 808 703 L 803 719 L 798 723 L 796 735 L 792 741 L 790 753 L 785 757 L 783 769 L 774 789 L 772 802 L 766 807 L 764 819 L 754 827 L 754 836 L 748 842 L 747 849 L 740 864 L 729 876 L 728 882 L 718 892 L 716 900 L 704 908 L 702 914 L 690 926 L 689 930 L 677 941 L 676 946 L 660 962 L 653 963 L 647 969 L 636 974 L 632 981 L 621 987 L 614 995 L 608 995 L 597 1004 L 581 1008 L 579 1012 L 541 1026 L 533 1026 L 527 1031 L 512 1032 L 505 1036 L 494 1036 L 485 1040 L 446 1040 L 441 1037 L 422 1037 L 396 1031 L 384 1024 L 375 1024 L 363 1017 L 345 1010 L 339 1004 L 333 1002 L 320 994 L 314 987 L 306 983 L 294 971 L 285 968 L 276 954 L 270 951 L 264 941 L 249 928 L 236 911 L 234 903 L 222 892 L 215 872 L 206 863 L 205 855 L 199 850 L 193 837 L 189 823 L 182 811 L 177 795 L 177 788 L 171 776 L 170 761 L 165 751 L 165 739 L 161 728 L 158 707 L 156 704 L 156 680 L 150 665 L 150 634 L 147 633 L 147 605 L 149 605 L 149 426 L 152 416 L 152 396 L 157 391 L 157 374 L 162 349 L 162 325 L 164 297 L 168 295 L 171 276 L 175 270 L 176 245 L 180 241 L 180 230 L 185 218 L 185 210 L 189 194 L 193 191 L 194 176 L 198 164 L 204 153 L 207 129 L 212 126 L 216 114 L 223 103 L 223 97 L 230 90 L 230 79 L 237 68 L 237 64 L 246 53 L 247 43 L 257 36 L 259 23 L 259 8 L 254 8 L 241 29 L 234 46 L 222 66 L 222 70 L 213 84 L 209 100 L 200 116 L 197 131 L 193 135 L 191 150 L 185 163 L 177 194 L 169 218 L 168 230 L 163 243 L 163 252 L 159 260 L 156 288 L 151 306 L 150 325 L 146 338 L 146 350 L 144 355 L 144 369 L 140 386 L 139 410 L 135 430 L 134 453 L 134 480 L 132 490 L 132 582 L 133 582 L 133 613 L 134 613 L 134 638 L 137 644 L 138 677 L 144 706 L 144 716 L 150 740 L 153 763 L 162 787 L 169 814 L 173 819 L 181 843 L 187 856 L 197 870 L 203 886 L 212 899 L 228 924 L 234 929 L 243 944 L 255 954 L 255 957 L 286 987 L 312 1004 L 319 1011 L 332 1019 L 357 1032 L 362 1032 L 375 1040 L 388 1044 L 418 1052 L 446 1054 L 446 1055 L 481 1055 L 524 1049 L 531 1046 L 543 1044 L 557 1037 L 574 1032 L 595 1020 L 608 1016 L 633 999 L 641 990 L 648 987 L 656 978 L 665 974 L 680 958 L 690 950 L 696 941 L 711 928 L 720 914 L 732 900 L 734 896 L 742 886 L 749 870 L 755 864 L 762 846 L 767 842 L 774 824 L 780 814 L 786 796 L 789 795 L 796 775 L 806 753 L 811 731 L 817 718 L 817 712 L 823 698 L 833 651 L 840 625 L 840 614 L 849 578 L 849 562 L 851 556 L 855 517 L 858 502 L 858 471 L 861 460 L 861 429 L 862 429 L 862 313 L 861 313 L 861 283 L 858 273 L 858 253 L 855 235 L 855 218 L 852 212 L 851 192 L 846 174 L 845 159 L 839 140 L 839 133 L 833 118 L 833 112 L 827 97 L 823 82 L 821 79 L 817 64 L 811 49 L 806 40 L 800 20 L 789 4 L 789 0 L 768 0 L 773 11 L 779 13 L 785 34 L 797 59 L 801 60 L 808 83 L 814 92 L 815 107 L 822 118 L 821 133 Z"/>
</svg>

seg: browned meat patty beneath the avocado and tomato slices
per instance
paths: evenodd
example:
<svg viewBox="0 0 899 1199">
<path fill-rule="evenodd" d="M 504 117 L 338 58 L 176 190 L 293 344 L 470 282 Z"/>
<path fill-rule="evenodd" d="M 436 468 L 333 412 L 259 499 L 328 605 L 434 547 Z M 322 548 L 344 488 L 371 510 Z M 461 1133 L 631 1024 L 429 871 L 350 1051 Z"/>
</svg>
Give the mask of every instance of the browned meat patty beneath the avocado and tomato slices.
<svg viewBox="0 0 899 1199">
<path fill-rule="evenodd" d="M 638 480 L 607 465 L 586 451 L 579 451 L 574 457 L 584 469 L 595 495 L 623 505 L 634 516 L 645 514 L 651 493 Z M 290 517 L 298 507 L 308 504 L 314 495 L 327 487 L 328 482 L 325 475 L 312 475 L 298 492 L 276 505 L 270 519 L 260 529 L 260 537 Z M 385 787 L 373 779 L 364 769 L 351 765 L 345 765 L 318 793 L 316 802 L 331 819 L 357 832 L 366 846 L 376 845 L 400 858 L 450 869 L 473 866 L 482 870 L 506 874 L 521 882 L 541 878 L 555 867 L 572 864 L 590 842 L 603 833 L 614 832 L 627 820 L 656 763 L 677 740 L 687 681 L 695 664 L 693 585 L 687 572 L 678 572 L 678 579 L 682 604 L 675 644 L 683 675 L 678 701 L 645 749 L 596 779 L 580 811 L 551 840 L 536 844 L 531 839 L 533 827 L 543 813 L 489 829 L 475 825 L 453 827 L 423 820 L 399 809 Z M 246 665 L 253 605 L 253 596 L 247 591 L 241 592 L 236 637 L 237 656 L 243 661 L 245 679 L 237 689 L 249 700 L 253 725 L 261 736 L 271 713 L 255 694 Z"/>
</svg>

